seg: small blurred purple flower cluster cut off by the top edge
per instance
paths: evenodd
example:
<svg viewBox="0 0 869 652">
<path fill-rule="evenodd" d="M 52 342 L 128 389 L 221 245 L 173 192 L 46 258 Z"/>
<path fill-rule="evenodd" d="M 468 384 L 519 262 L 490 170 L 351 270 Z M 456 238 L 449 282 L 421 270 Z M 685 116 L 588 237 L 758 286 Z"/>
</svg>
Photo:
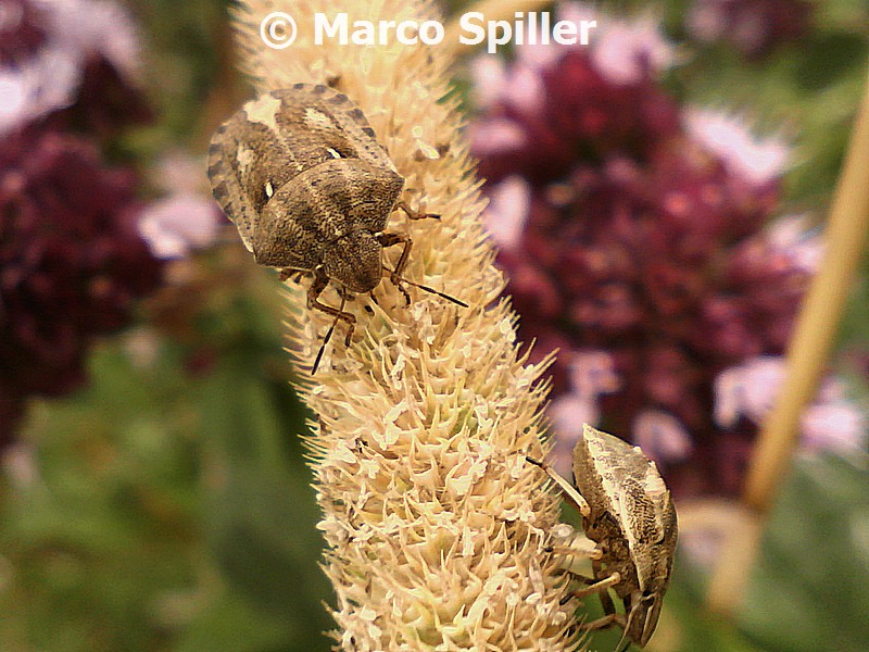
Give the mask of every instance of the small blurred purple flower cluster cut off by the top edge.
<svg viewBox="0 0 869 652">
<path fill-rule="evenodd" d="M 697 40 L 727 41 L 760 59 L 806 36 L 811 17 L 813 5 L 805 0 L 695 0 L 687 23 Z"/>
</svg>

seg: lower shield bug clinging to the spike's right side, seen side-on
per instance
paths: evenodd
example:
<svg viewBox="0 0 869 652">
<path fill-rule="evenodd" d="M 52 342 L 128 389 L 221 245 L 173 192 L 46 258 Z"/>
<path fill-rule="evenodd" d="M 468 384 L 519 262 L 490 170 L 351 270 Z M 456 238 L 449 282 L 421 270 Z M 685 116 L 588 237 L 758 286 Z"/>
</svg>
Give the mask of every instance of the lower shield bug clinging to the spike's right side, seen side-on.
<svg viewBox="0 0 869 652">
<path fill-rule="evenodd" d="M 574 449 L 576 488 L 543 462 L 528 461 L 577 506 L 585 536 L 596 547 L 593 577 L 580 577 L 588 586 L 574 594 L 597 593 L 606 615 L 582 628 L 618 625 L 624 635 L 617 652 L 631 642 L 644 647 L 657 626 L 677 539 L 676 507 L 655 463 L 639 447 L 588 425 Z M 610 589 L 625 613 L 616 611 Z"/>
</svg>

